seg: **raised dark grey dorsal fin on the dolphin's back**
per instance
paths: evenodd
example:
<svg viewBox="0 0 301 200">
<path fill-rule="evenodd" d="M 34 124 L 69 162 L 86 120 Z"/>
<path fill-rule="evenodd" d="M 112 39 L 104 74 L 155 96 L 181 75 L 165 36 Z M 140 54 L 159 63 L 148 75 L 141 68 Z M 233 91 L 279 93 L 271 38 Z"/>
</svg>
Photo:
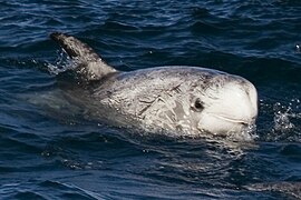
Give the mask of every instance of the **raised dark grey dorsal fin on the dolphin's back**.
<svg viewBox="0 0 301 200">
<path fill-rule="evenodd" d="M 100 80 L 103 77 L 117 70 L 108 66 L 88 44 L 75 37 L 54 32 L 50 38 L 56 41 L 68 56 L 76 60 L 76 71 L 87 81 Z"/>
</svg>

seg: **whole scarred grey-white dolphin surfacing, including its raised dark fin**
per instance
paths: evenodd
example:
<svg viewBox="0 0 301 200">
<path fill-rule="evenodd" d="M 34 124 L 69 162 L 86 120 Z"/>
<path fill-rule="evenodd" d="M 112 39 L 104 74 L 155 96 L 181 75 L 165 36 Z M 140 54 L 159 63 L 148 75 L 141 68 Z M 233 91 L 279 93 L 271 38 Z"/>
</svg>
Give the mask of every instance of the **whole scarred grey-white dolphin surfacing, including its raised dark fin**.
<svg viewBox="0 0 301 200">
<path fill-rule="evenodd" d="M 118 71 L 86 43 L 55 32 L 94 111 L 117 127 L 146 132 L 226 136 L 255 123 L 258 92 L 246 79 L 201 67 L 169 66 Z M 84 94 L 82 94 L 84 96 Z"/>
</svg>

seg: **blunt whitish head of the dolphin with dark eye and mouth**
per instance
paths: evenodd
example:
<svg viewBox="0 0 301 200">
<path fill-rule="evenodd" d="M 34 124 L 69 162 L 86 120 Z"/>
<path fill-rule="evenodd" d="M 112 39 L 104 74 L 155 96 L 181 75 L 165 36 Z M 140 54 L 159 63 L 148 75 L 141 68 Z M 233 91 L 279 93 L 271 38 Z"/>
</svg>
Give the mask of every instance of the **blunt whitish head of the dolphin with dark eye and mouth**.
<svg viewBox="0 0 301 200">
<path fill-rule="evenodd" d="M 240 132 L 255 123 L 258 92 L 247 80 L 227 73 L 191 81 L 191 127 L 214 134 Z"/>
</svg>

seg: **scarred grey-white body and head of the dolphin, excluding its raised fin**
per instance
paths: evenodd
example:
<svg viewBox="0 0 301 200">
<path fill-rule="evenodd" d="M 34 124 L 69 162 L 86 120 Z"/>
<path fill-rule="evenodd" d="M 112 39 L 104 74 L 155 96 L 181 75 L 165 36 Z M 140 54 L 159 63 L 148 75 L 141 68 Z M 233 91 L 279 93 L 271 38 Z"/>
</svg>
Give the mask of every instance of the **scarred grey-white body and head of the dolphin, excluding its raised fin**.
<svg viewBox="0 0 301 200">
<path fill-rule="evenodd" d="M 116 73 L 93 97 L 147 131 L 214 134 L 242 131 L 258 116 L 251 82 L 216 70 L 163 67 Z M 195 101 L 202 108 L 195 108 Z"/>
</svg>

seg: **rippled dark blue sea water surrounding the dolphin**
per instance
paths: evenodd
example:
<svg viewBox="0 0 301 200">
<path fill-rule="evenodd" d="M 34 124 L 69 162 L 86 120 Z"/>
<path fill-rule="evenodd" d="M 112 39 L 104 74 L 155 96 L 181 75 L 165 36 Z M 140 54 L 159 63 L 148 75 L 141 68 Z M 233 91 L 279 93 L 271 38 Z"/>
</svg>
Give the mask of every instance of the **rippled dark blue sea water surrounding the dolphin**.
<svg viewBox="0 0 301 200">
<path fill-rule="evenodd" d="M 0 1 L 0 199 L 301 198 L 300 10 L 298 0 Z M 245 77 L 259 91 L 256 141 L 135 136 L 27 101 L 58 89 L 54 31 L 119 70 Z"/>
</svg>

